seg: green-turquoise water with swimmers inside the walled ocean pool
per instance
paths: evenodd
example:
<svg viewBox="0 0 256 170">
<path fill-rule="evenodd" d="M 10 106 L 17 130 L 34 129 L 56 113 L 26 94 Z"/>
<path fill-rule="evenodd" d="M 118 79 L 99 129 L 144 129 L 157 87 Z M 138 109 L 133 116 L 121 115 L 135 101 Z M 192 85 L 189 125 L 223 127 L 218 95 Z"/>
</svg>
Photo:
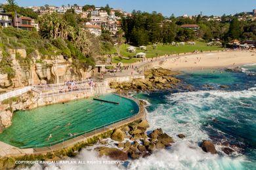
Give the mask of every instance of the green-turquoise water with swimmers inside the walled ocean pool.
<svg viewBox="0 0 256 170">
<path fill-rule="evenodd" d="M 131 99 L 114 94 L 100 99 L 116 101 L 119 105 L 90 98 L 15 112 L 12 126 L 0 133 L 0 141 L 17 147 L 47 146 L 139 112 L 137 103 Z"/>
</svg>

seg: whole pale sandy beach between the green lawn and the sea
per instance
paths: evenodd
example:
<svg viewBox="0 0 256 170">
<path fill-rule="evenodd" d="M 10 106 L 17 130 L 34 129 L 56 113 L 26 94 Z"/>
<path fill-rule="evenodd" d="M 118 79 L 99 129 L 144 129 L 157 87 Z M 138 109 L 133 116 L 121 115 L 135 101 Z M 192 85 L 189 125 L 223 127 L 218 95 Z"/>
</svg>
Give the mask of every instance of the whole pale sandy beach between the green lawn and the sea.
<svg viewBox="0 0 256 170">
<path fill-rule="evenodd" d="M 172 71 L 196 71 L 203 69 L 235 68 L 241 65 L 256 63 L 255 50 L 232 50 L 223 52 L 203 52 L 160 56 L 134 63 L 140 71 L 162 67 Z M 129 65 L 131 67 L 131 65 Z"/>
</svg>

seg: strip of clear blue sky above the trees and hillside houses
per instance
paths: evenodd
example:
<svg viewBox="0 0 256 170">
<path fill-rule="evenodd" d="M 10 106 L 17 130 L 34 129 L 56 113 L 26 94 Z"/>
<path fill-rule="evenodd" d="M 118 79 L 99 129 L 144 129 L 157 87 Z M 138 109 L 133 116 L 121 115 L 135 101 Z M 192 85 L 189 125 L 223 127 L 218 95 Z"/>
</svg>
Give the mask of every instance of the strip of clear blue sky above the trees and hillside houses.
<svg viewBox="0 0 256 170">
<path fill-rule="evenodd" d="M 5 0 L 0 0 L 1 3 Z M 157 11 L 165 16 L 175 14 L 195 15 L 200 11 L 205 15 L 235 14 L 237 12 L 252 11 L 256 9 L 256 0 L 16 0 L 18 5 L 78 5 L 91 4 L 96 6 L 105 6 L 123 9 L 131 12 L 133 9 L 147 12 Z"/>
</svg>

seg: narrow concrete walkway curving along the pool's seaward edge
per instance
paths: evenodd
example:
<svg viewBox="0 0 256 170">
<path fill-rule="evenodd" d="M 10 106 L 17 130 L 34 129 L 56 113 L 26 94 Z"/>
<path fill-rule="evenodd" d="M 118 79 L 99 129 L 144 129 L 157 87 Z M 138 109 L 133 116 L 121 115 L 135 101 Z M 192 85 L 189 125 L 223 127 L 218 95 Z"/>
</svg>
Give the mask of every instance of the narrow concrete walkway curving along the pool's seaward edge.
<svg viewBox="0 0 256 170">
<path fill-rule="evenodd" d="M 126 97 L 126 98 L 131 99 L 130 97 Z M 101 133 L 109 131 L 110 129 L 115 129 L 120 126 L 124 126 L 125 124 L 129 124 L 131 122 L 134 122 L 135 120 L 145 119 L 146 118 L 145 108 L 143 107 L 143 105 L 140 105 L 139 101 L 137 101 L 136 99 L 133 98 L 133 101 L 135 101 L 139 106 L 139 112 L 134 116 L 131 116 L 125 120 L 121 120 L 114 124 L 110 124 L 109 126 L 104 126 L 100 129 L 95 129 L 94 131 L 91 131 L 89 133 L 79 135 L 77 137 L 74 137 L 73 139 L 63 141 L 62 143 L 53 144 L 53 146 L 45 146 L 41 148 L 18 148 L 18 147 L 12 146 L 11 144 L 3 143 L 0 141 L 0 158 L 3 156 L 23 156 L 26 154 L 45 154 L 47 152 L 61 150 L 62 148 L 67 148 L 69 146 L 73 146 L 74 144 L 87 141 L 87 139 L 100 135 Z"/>
</svg>

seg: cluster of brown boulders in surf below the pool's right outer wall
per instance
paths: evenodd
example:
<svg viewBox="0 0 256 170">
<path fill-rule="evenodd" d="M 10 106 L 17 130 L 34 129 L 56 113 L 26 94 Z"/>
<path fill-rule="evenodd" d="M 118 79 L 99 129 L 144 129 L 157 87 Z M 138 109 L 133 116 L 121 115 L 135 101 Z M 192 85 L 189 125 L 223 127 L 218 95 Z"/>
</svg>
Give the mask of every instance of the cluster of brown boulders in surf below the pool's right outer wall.
<svg viewBox="0 0 256 170">
<path fill-rule="evenodd" d="M 175 143 L 172 137 L 163 133 L 162 129 L 146 133 L 149 124 L 146 120 L 135 121 L 128 126 L 114 129 L 110 138 L 116 142 L 117 148 L 108 147 L 106 140 L 101 140 L 95 150 L 99 156 L 108 156 L 114 160 L 135 160 L 150 156 L 159 149 L 167 148 Z"/>
</svg>

